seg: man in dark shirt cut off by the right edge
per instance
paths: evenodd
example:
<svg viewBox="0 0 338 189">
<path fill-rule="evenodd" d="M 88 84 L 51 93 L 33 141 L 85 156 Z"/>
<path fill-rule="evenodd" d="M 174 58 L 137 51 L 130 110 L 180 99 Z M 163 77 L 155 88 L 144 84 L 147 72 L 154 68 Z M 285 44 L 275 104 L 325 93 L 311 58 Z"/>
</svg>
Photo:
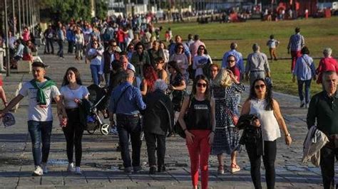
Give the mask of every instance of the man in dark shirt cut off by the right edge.
<svg viewBox="0 0 338 189">
<path fill-rule="evenodd" d="M 329 142 L 320 150 L 320 168 L 324 188 L 334 188 L 334 162 L 338 156 L 337 73 L 324 72 L 322 81 L 323 91 L 314 95 L 309 103 L 307 128 L 317 124 L 317 128 L 329 138 Z"/>
</svg>

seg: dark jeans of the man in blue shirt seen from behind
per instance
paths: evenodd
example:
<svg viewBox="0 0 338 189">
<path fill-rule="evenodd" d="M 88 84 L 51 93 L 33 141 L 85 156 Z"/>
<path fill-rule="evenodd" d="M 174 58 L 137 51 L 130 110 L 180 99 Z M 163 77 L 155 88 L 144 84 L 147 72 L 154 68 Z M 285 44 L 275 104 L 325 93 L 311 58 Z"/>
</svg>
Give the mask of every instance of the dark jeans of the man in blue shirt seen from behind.
<svg viewBox="0 0 338 189">
<path fill-rule="evenodd" d="M 140 147 L 142 146 L 142 141 L 140 140 L 140 133 L 142 130 L 140 126 L 140 118 L 133 115 L 117 114 L 116 122 L 123 166 L 125 168 L 131 166 L 140 166 Z M 129 154 L 129 136 L 131 141 L 131 148 L 133 150 L 133 163 L 131 163 Z"/>
</svg>

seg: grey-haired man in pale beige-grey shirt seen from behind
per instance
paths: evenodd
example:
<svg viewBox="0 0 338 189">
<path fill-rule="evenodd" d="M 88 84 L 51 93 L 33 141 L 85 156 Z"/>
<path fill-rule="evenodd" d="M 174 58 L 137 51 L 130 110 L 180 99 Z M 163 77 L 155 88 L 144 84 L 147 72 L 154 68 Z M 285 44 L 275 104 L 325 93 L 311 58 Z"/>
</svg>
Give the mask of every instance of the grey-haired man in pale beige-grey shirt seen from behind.
<svg viewBox="0 0 338 189">
<path fill-rule="evenodd" d="M 250 86 L 258 78 L 270 77 L 267 55 L 260 53 L 260 45 L 257 43 L 252 45 L 252 50 L 254 52 L 247 56 L 247 65 L 245 66 L 245 77 L 246 80 L 250 78 Z"/>
</svg>

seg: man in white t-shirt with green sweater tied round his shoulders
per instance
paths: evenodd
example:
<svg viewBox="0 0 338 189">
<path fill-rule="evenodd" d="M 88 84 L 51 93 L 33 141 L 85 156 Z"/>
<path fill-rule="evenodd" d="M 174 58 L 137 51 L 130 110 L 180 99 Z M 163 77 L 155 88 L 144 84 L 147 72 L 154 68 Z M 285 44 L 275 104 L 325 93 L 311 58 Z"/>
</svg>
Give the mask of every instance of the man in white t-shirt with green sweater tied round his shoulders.
<svg viewBox="0 0 338 189">
<path fill-rule="evenodd" d="M 46 65 L 40 62 L 32 64 L 34 79 L 26 82 L 19 91 L 19 95 L 9 102 L 8 106 L 0 111 L 0 117 L 9 112 L 26 96 L 29 96 L 28 129 L 31 136 L 32 153 L 35 170 L 33 175 L 47 173 L 47 161 L 51 146 L 51 129 L 53 114 L 51 112 L 51 99 L 57 104 L 58 117 L 62 125 L 66 125 L 67 114 L 60 98 L 60 92 L 53 80 L 45 77 Z M 42 145 L 41 145 L 42 143 Z M 42 148 L 41 148 L 42 146 Z"/>
</svg>

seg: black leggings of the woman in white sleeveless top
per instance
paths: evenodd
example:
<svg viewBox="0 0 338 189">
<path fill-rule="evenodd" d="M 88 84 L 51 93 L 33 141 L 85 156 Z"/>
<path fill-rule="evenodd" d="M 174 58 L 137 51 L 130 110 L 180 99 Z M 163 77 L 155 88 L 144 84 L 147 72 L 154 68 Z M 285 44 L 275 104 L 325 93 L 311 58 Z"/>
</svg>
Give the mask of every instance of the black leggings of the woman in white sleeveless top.
<svg viewBox="0 0 338 189">
<path fill-rule="evenodd" d="M 246 144 L 247 155 L 250 159 L 250 174 L 252 178 L 252 183 L 255 185 L 255 188 L 262 188 L 260 182 L 260 155 L 257 155 L 257 150 L 255 145 Z M 265 167 L 265 180 L 267 182 L 267 188 L 275 188 L 275 160 L 277 153 L 277 144 L 275 141 L 264 141 L 264 156 L 263 163 Z"/>
</svg>

